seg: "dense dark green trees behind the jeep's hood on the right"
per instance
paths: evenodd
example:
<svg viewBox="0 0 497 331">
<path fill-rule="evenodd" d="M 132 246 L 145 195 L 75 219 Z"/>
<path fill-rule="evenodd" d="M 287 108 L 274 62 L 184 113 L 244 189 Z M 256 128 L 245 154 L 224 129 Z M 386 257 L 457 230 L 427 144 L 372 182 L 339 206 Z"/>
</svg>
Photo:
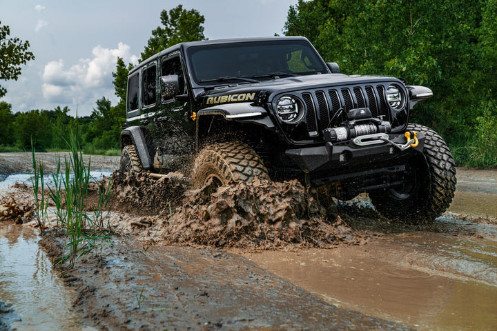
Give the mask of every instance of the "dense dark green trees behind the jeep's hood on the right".
<svg viewBox="0 0 497 331">
<path fill-rule="evenodd" d="M 497 1 L 300 0 L 286 35 L 307 37 L 347 74 L 402 77 L 433 90 L 412 120 L 465 145 L 495 103 Z M 469 139 L 471 140 L 471 139 Z"/>
</svg>

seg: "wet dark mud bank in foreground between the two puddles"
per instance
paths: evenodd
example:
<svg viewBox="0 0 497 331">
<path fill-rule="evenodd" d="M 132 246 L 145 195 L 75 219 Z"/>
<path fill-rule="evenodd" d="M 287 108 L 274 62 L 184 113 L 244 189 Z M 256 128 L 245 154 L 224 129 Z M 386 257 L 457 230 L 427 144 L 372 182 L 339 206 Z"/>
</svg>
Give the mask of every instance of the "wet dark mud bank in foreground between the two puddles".
<svg viewBox="0 0 497 331">
<path fill-rule="evenodd" d="M 52 238 L 41 245 L 56 252 Z M 81 321 L 101 330 L 410 330 L 338 309 L 220 250 L 114 238 L 64 279 Z"/>
</svg>

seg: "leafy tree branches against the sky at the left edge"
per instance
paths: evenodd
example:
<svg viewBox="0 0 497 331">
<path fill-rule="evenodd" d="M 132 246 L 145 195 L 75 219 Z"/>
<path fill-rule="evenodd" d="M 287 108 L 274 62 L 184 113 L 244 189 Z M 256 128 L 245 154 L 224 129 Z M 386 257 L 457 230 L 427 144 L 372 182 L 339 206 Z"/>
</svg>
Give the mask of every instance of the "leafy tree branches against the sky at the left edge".
<svg viewBox="0 0 497 331">
<path fill-rule="evenodd" d="M 35 59 L 35 55 L 28 51 L 29 41 L 21 41 L 17 37 L 9 37 L 10 28 L 2 26 L 0 21 L 0 80 L 8 81 L 21 74 L 21 65 Z M 0 86 L 0 98 L 7 93 L 6 88 Z"/>
</svg>

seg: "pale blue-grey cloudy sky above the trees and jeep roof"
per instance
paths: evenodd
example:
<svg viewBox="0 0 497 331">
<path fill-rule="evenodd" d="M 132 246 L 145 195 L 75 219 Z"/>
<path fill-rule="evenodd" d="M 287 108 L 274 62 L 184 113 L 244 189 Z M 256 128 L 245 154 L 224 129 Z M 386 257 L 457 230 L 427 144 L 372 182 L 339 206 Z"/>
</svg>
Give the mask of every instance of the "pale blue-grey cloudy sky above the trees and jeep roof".
<svg viewBox="0 0 497 331">
<path fill-rule="evenodd" d="M 91 114 L 101 97 L 114 106 L 117 57 L 137 64 L 160 12 L 179 3 L 204 15 L 208 39 L 223 39 L 282 35 L 298 0 L 0 0 L 1 25 L 36 57 L 17 81 L 0 81 L 8 90 L 0 101 L 12 112 L 68 106 L 72 116 Z"/>
</svg>

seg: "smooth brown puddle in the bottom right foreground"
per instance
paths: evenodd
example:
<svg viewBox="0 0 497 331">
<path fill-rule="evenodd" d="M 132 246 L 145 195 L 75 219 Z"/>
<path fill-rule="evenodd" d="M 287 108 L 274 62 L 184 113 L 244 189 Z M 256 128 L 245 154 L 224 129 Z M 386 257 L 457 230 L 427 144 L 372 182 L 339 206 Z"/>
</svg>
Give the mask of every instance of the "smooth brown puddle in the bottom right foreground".
<svg viewBox="0 0 497 331">
<path fill-rule="evenodd" d="M 496 241 L 457 240 L 412 232 L 364 246 L 244 256 L 340 308 L 418 330 L 496 330 Z"/>
</svg>

